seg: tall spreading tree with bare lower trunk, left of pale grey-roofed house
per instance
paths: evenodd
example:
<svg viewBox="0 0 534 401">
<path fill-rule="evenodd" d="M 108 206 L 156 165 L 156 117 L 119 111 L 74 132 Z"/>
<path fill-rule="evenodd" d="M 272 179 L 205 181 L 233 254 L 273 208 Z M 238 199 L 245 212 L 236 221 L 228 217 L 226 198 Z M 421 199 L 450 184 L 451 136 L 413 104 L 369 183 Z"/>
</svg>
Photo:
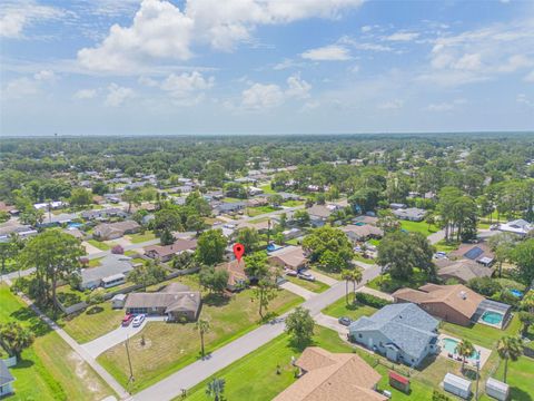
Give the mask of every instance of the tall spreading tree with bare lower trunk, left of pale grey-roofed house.
<svg viewBox="0 0 534 401">
<path fill-rule="evenodd" d="M 58 228 L 42 232 L 28 239 L 26 247 L 19 255 L 22 267 L 36 267 L 36 280 L 39 283 L 37 302 L 44 305 L 50 301 L 48 288 L 51 288 L 51 301 L 57 311 L 56 287 L 61 278 L 77 271 L 80 266 L 80 256 L 85 250 L 80 241 Z"/>
</svg>

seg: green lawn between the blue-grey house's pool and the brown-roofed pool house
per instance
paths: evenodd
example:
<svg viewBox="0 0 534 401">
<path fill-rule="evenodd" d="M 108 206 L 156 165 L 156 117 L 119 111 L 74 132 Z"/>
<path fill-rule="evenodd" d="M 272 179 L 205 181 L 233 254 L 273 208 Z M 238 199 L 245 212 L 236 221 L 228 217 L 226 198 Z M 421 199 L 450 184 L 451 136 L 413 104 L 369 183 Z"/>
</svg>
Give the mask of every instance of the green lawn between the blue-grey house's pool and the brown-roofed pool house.
<svg viewBox="0 0 534 401">
<path fill-rule="evenodd" d="M 485 324 L 475 324 L 472 327 L 464 327 L 457 324 L 443 322 L 441 332 L 448 333 L 457 339 L 466 339 L 475 345 L 482 345 L 490 350 L 495 349 L 497 341 L 505 335 L 516 335 L 521 330 L 521 322 L 517 315 L 514 315 L 512 322 L 505 330 L 498 330 Z"/>
</svg>

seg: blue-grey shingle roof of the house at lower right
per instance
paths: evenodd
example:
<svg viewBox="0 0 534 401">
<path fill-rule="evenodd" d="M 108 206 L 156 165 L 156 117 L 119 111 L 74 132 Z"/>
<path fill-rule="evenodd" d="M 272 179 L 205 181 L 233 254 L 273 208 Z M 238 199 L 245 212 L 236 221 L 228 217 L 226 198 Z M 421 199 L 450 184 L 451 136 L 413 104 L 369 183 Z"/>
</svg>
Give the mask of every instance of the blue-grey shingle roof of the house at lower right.
<svg viewBox="0 0 534 401">
<path fill-rule="evenodd" d="M 373 316 L 363 316 L 349 331 L 379 331 L 405 353 L 419 358 L 425 346 L 437 336 L 438 321 L 413 303 L 384 306 Z"/>
</svg>

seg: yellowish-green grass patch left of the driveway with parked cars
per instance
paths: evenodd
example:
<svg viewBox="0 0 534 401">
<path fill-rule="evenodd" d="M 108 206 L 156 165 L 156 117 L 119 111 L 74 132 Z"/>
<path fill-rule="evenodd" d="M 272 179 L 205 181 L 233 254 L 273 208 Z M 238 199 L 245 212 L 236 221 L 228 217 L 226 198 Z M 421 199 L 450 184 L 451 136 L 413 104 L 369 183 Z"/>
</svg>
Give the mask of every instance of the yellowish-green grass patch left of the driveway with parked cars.
<svg viewBox="0 0 534 401">
<path fill-rule="evenodd" d="M 76 316 L 63 317 L 58 324 L 77 342 L 85 343 L 117 329 L 123 315 L 123 310 L 113 310 L 111 302 L 103 302 Z"/>
</svg>

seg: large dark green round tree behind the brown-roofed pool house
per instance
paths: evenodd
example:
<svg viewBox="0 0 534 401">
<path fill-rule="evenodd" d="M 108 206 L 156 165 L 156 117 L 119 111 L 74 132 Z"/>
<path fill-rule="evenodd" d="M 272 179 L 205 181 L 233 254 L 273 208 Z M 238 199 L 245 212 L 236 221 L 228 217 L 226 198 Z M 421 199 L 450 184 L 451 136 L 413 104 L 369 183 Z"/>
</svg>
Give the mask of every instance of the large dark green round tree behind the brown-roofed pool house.
<svg viewBox="0 0 534 401">
<path fill-rule="evenodd" d="M 434 247 L 421 233 L 394 232 L 378 244 L 376 262 L 383 266 L 393 278 L 409 281 L 414 268 L 419 267 L 428 275 L 434 273 L 432 256 Z"/>
</svg>

